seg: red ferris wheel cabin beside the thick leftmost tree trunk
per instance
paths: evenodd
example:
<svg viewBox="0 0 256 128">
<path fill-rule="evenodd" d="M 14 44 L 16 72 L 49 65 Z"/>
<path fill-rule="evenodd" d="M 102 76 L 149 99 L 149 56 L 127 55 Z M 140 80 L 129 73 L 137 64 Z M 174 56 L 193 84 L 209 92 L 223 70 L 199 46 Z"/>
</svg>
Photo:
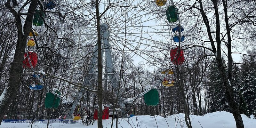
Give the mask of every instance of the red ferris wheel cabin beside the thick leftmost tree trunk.
<svg viewBox="0 0 256 128">
<path fill-rule="evenodd" d="M 36 52 L 28 52 L 28 54 L 24 54 L 25 59 L 23 60 L 23 68 L 31 68 L 28 57 L 31 61 L 32 67 L 35 68 L 38 60 Z"/>
</svg>

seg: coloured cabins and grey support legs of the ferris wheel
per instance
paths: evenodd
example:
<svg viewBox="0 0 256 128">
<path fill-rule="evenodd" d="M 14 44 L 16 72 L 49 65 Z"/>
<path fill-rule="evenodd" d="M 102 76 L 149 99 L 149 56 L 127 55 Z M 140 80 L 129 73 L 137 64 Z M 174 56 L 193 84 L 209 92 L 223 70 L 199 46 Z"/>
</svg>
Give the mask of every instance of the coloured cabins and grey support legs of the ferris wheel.
<svg viewBox="0 0 256 128">
<path fill-rule="evenodd" d="M 172 2 L 172 1 L 171 1 Z M 156 4 L 158 6 L 163 6 L 166 3 L 166 0 L 156 0 Z M 46 9 L 54 9 L 56 4 L 52 1 L 49 3 L 45 3 L 45 8 Z M 35 26 L 41 26 L 44 23 L 44 12 L 36 10 L 37 13 L 34 14 L 34 19 L 33 19 L 33 25 Z M 173 65 L 181 65 L 185 58 L 184 58 L 184 51 L 181 50 L 180 42 L 183 42 L 185 40 L 185 36 L 181 35 L 181 32 L 184 30 L 180 26 L 180 20 L 179 20 L 179 14 L 178 14 L 178 9 L 177 7 L 174 6 L 173 2 L 172 5 L 169 6 L 166 10 L 166 18 L 170 23 L 174 22 L 179 22 L 178 26 L 175 28 L 172 28 L 172 32 L 174 32 L 173 36 L 173 41 L 178 43 L 177 48 L 174 48 L 171 50 L 171 57 L 170 60 L 172 61 Z M 111 51 L 111 44 L 109 43 L 110 40 L 110 31 L 108 29 L 108 24 L 102 23 L 100 25 L 100 33 L 101 33 L 101 44 L 102 44 L 102 52 L 105 52 L 105 59 L 104 59 L 104 64 L 105 64 L 105 69 L 104 69 L 104 79 L 105 79 L 105 84 L 109 83 L 112 88 L 114 89 L 119 89 L 119 91 L 114 90 L 114 97 L 118 98 L 119 100 L 117 101 L 118 106 L 122 110 L 122 118 L 127 117 L 126 113 L 127 111 L 132 107 L 133 102 L 136 98 L 144 96 L 145 103 L 148 106 L 156 106 L 159 102 L 159 96 L 158 96 L 158 91 L 156 89 L 156 85 L 153 86 L 147 86 L 144 92 L 141 92 L 134 98 L 123 98 L 120 94 L 124 94 L 124 89 L 122 88 L 122 85 L 119 85 L 117 83 L 117 77 L 116 77 L 116 71 L 115 71 L 115 65 L 114 65 L 114 59 L 113 59 L 113 54 Z M 29 34 L 30 38 L 28 40 L 28 51 L 24 54 L 24 68 L 30 68 L 30 70 L 34 70 L 37 64 L 37 54 L 36 52 L 31 52 L 31 47 L 37 45 L 34 41 L 38 33 L 36 31 L 33 31 Z M 92 83 L 95 83 L 97 79 L 97 61 L 98 61 L 98 52 L 97 52 L 98 46 L 96 45 L 93 50 L 92 58 L 89 64 L 89 71 L 88 74 L 84 78 L 84 82 L 82 86 L 88 87 L 88 85 L 93 85 Z M 103 55 L 102 53 L 102 55 Z M 124 54 L 124 57 L 126 55 Z M 128 59 L 128 63 L 132 65 L 132 67 L 136 67 L 132 61 Z M 139 72 L 137 68 L 134 68 L 135 71 Z M 164 75 L 164 79 L 162 80 L 162 84 L 164 86 L 174 86 L 175 81 L 172 80 L 172 74 L 174 74 L 174 71 L 172 69 L 167 69 L 161 72 Z M 46 98 L 45 98 L 45 107 L 46 108 L 57 108 L 60 104 L 60 99 L 62 98 L 65 101 L 69 102 L 69 107 L 70 111 L 67 114 L 66 119 L 80 119 L 79 116 L 73 116 L 74 111 L 77 109 L 77 106 L 80 105 L 81 97 L 83 97 L 83 94 L 85 92 L 84 88 L 80 88 L 79 92 L 77 93 L 75 100 L 71 101 L 69 99 L 66 99 L 60 95 L 60 92 L 51 90 L 48 87 L 44 86 L 44 75 L 42 74 L 32 74 L 32 76 L 35 78 L 35 83 L 29 85 L 28 87 L 32 90 L 40 90 L 43 88 L 46 88 L 47 93 L 46 93 Z M 143 77 L 143 76 L 141 76 Z M 107 79 L 107 80 L 106 80 Z M 146 81 L 143 83 L 145 85 L 150 85 L 149 82 L 147 81 L 146 78 L 144 78 Z M 95 86 L 91 86 L 91 89 L 95 88 Z M 105 86 L 106 87 L 106 86 Z M 118 93 L 119 92 L 119 93 Z M 118 96 L 119 94 L 119 96 Z M 81 106 L 81 105 L 80 105 Z M 112 104 L 107 105 L 106 107 L 113 107 Z"/>
</svg>

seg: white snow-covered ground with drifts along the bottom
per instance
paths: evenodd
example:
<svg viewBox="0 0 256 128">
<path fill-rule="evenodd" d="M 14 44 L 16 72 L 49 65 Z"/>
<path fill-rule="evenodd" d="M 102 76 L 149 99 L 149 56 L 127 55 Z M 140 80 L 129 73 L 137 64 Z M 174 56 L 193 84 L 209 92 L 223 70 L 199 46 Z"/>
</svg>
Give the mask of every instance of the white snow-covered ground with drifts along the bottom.
<svg viewBox="0 0 256 128">
<path fill-rule="evenodd" d="M 236 128 L 236 123 L 232 113 L 214 112 L 204 116 L 191 115 L 193 128 Z M 255 128 L 256 119 L 242 115 L 245 128 Z M 111 119 L 103 120 L 103 128 L 111 127 Z M 33 128 L 45 128 L 47 124 L 35 124 Z M 113 125 L 116 127 L 116 120 Z M 126 119 L 118 119 L 118 128 L 186 128 L 184 114 L 176 114 L 164 118 L 162 116 L 133 116 Z M 28 128 L 28 124 L 2 123 L 0 128 Z M 29 127 L 30 128 L 30 127 Z M 49 128 L 97 128 L 97 121 L 93 125 L 85 126 L 83 124 L 50 124 Z"/>
</svg>

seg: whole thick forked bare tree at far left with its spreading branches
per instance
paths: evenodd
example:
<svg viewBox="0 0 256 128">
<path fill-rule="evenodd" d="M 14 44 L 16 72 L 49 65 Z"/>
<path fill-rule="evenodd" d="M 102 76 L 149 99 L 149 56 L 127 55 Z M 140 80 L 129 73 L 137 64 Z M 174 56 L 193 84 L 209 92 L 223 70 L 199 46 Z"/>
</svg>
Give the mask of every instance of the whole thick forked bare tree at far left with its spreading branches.
<svg viewBox="0 0 256 128">
<path fill-rule="evenodd" d="M 57 38 L 62 41 L 67 40 L 67 38 L 58 37 L 59 33 L 57 33 L 56 30 L 53 29 L 54 24 L 57 24 L 58 21 L 59 22 L 62 21 L 62 23 L 64 22 L 64 24 L 66 25 L 67 24 L 73 25 L 74 22 L 71 22 L 72 20 L 79 21 L 77 19 L 81 18 L 79 17 L 79 14 L 76 14 L 75 12 L 76 10 L 79 10 L 82 7 L 84 7 L 84 4 L 82 6 L 79 5 L 77 7 L 73 7 L 72 5 L 67 6 L 65 4 L 58 4 L 58 5 L 62 6 L 63 8 L 61 8 L 57 12 L 54 12 L 54 11 L 46 11 L 42 2 L 38 0 L 19 2 L 19 4 L 17 3 L 16 0 L 12 0 L 12 4 L 11 4 L 11 0 L 7 0 L 7 2 L 5 3 L 5 6 L 8 8 L 9 12 L 12 13 L 18 34 L 17 34 L 16 49 L 13 50 L 14 57 L 9 70 L 10 71 L 9 83 L 8 83 L 8 86 L 5 87 L 4 92 L 1 94 L 2 99 L 0 99 L 0 112 L 1 112 L 0 117 L 3 117 L 5 115 L 8 109 L 8 106 L 10 105 L 10 103 L 12 103 L 12 100 L 16 96 L 16 92 L 19 90 L 20 85 L 22 84 L 22 77 L 21 77 L 23 72 L 22 61 L 24 58 L 25 48 L 28 40 L 28 34 L 32 32 L 31 31 L 32 21 L 33 21 L 33 16 L 36 11 L 36 8 L 39 8 L 41 12 L 49 12 L 49 17 L 48 17 L 49 19 L 43 19 L 44 25 L 47 27 L 47 30 L 50 30 L 52 34 L 57 35 Z M 69 11 L 65 10 L 65 8 L 69 8 Z M 27 13 L 24 13 L 24 12 L 27 12 Z M 57 15 L 58 17 L 60 17 L 60 20 L 51 19 L 52 15 Z M 36 41 L 36 38 L 34 39 Z M 51 48 L 49 48 L 47 44 L 38 45 L 37 41 L 36 41 L 36 48 L 51 50 Z M 0 119 L 0 122 L 2 121 L 2 119 L 3 118 Z"/>
</svg>

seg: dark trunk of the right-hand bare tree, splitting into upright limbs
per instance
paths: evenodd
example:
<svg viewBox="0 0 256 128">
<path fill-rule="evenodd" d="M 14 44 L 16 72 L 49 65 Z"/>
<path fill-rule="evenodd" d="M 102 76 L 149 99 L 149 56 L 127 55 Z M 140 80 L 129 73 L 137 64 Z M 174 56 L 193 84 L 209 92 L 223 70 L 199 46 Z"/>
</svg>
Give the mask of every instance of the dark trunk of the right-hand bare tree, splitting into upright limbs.
<svg viewBox="0 0 256 128">
<path fill-rule="evenodd" d="M 217 65 L 218 65 L 218 69 L 220 72 L 220 75 L 222 77 L 222 82 L 223 85 L 225 87 L 225 97 L 227 99 L 228 102 L 228 106 L 235 118 L 236 121 L 236 127 L 237 128 L 244 128 L 244 124 L 243 124 L 243 120 L 242 117 L 240 115 L 239 112 L 239 108 L 236 105 L 236 102 L 234 100 L 234 92 L 233 92 L 233 88 L 231 86 L 231 84 L 229 83 L 229 80 L 232 79 L 232 64 L 228 63 L 228 77 L 226 75 L 226 71 L 225 68 L 223 66 L 223 62 L 222 62 L 222 58 L 221 58 L 221 40 L 220 40 L 220 18 L 219 18 L 219 11 L 218 11 L 218 3 L 216 0 L 213 0 L 213 6 L 214 6 L 214 11 L 215 11 L 215 18 L 216 18 L 216 46 L 217 46 L 217 50 L 215 48 L 215 42 L 212 39 L 212 33 L 210 30 L 210 25 L 209 25 L 209 21 L 208 18 L 206 16 L 206 14 L 204 13 L 204 9 L 203 9 L 203 4 L 202 1 L 199 0 L 199 4 L 200 4 L 200 11 L 202 13 L 202 17 L 204 20 L 204 24 L 206 25 L 207 28 L 207 32 L 208 32 L 208 36 L 212 45 L 212 52 L 215 54 L 215 59 L 217 60 Z M 226 2 L 223 0 L 222 2 L 224 2 L 224 13 L 225 13 L 225 23 L 226 23 L 226 28 L 229 28 L 228 26 L 228 19 L 227 18 L 227 6 L 226 6 Z M 227 32 L 228 35 L 230 36 L 230 31 Z M 230 53 L 228 55 L 228 62 L 230 62 L 230 59 L 232 60 L 231 57 L 231 38 L 228 37 L 228 53 Z M 230 46 L 229 46 L 230 45 Z M 231 67 L 230 67 L 231 66 Z"/>
</svg>

